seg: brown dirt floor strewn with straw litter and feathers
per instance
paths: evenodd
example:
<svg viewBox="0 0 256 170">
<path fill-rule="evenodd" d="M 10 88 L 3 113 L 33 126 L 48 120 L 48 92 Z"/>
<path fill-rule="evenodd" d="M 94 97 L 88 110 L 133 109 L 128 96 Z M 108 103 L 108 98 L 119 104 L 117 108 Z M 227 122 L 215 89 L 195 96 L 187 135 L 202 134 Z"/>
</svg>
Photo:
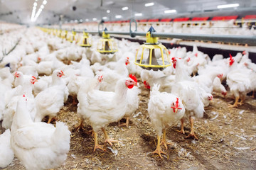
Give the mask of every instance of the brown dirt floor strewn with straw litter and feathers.
<svg viewBox="0 0 256 170">
<path fill-rule="evenodd" d="M 143 86 L 141 89 L 139 109 L 131 118 L 129 128 L 119 128 L 117 123 L 107 127 L 110 137 L 121 142 L 114 143 L 112 147 L 105 144 L 106 152 L 93 152 L 90 126 L 85 125 L 85 130 L 75 131 L 77 107 L 69 98 L 58 114 L 58 120 L 65 122 L 72 132 L 70 152 L 65 164 L 58 169 L 256 169 L 255 99 L 247 96 L 244 105 L 229 108 L 228 103 L 233 103 L 231 96 L 223 98 L 213 94 L 213 101 L 206 108 L 204 117 L 195 123 L 199 140 L 185 139 L 190 132 L 186 120 L 186 135 L 176 132 L 180 125 L 167 130 L 167 140 L 173 145 L 169 145 L 168 150 L 162 147 L 169 156 L 163 155 L 164 159 L 160 159 L 158 155 L 151 154 L 156 149 L 156 133 L 146 111 L 149 90 Z M 99 137 L 102 144 L 102 132 Z M 15 158 L 6 169 L 25 168 Z"/>
</svg>

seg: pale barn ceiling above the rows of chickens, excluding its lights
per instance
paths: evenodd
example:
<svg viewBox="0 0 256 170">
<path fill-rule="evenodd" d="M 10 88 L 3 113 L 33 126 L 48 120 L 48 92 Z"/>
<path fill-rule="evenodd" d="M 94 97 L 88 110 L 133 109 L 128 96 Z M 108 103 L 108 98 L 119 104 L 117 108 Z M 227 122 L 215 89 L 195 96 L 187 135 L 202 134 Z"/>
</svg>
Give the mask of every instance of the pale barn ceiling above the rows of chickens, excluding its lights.
<svg viewBox="0 0 256 170">
<path fill-rule="evenodd" d="M 31 23 L 33 3 L 36 0 L 0 0 L 0 21 L 23 24 L 53 24 L 59 23 L 60 18 L 65 22 L 92 21 L 107 17 L 106 21 L 128 20 L 143 18 L 175 18 L 178 16 L 218 16 L 256 14 L 256 0 L 48 0 L 36 22 Z M 154 6 L 144 4 L 154 2 Z M 40 6 L 43 0 L 37 0 Z M 218 9 L 218 5 L 235 4 L 237 8 Z M 122 7 L 129 9 L 122 11 Z M 38 7 L 39 8 L 39 7 Z M 36 11 L 38 11 L 38 8 Z M 176 13 L 166 14 L 164 11 L 176 9 Z M 107 13 L 110 10 L 110 13 Z M 142 16 L 134 16 L 142 13 Z M 120 15 L 122 18 L 116 18 Z"/>
</svg>

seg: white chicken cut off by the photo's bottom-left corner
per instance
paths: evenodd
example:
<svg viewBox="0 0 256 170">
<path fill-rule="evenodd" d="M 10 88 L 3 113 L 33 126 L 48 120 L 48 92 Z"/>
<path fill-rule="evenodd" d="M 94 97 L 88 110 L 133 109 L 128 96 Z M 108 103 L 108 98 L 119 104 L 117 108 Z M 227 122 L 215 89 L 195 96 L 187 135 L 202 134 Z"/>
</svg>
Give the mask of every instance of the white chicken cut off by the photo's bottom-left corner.
<svg viewBox="0 0 256 170">
<path fill-rule="evenodd" d="M 11 149 L 11 132 L 7 129 L 0 135 L 0 168 L 5 168 L 14 159 L 14 152 Z"/>
</svg>

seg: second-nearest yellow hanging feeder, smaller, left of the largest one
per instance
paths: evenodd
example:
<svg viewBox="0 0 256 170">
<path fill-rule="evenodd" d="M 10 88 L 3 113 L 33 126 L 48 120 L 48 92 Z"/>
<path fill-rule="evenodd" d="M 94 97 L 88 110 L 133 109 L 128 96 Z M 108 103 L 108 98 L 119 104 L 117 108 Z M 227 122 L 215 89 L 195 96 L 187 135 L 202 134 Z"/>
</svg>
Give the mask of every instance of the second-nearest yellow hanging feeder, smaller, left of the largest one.
<svg viewBox="0 0 256 170">
<path fill-rule="evenodd" d="M 107 31 L 107 28 L 102 32 L 102 39 L 97 44 L 97 51 L 104 55 L 114 54 L 114 52 L 117 52 L 117 45 L 105 31 Z"/>
</svg>

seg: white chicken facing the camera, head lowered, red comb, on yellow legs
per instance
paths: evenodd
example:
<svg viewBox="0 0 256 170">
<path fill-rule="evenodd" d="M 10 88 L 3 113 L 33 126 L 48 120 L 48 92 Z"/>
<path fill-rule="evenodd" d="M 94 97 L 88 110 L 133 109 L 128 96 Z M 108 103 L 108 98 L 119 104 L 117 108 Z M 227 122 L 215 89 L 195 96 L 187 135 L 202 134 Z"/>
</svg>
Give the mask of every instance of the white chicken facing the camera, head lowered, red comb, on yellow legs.
<svg viewBox="0 0 256 170">
<path fill-rule="evenodd" d="M 154 84 L 150 92 L 148 112 L 157 135 L 157 146 L 153 154 L 159 154 L 161 157 L 161 154 L 166 153 L 161 150 L 160 145 L 164 145 L 166 149 L 167 145 L 171 145 L 166 142 L 166 128 L 173 127 L 183 118 L 185 108 L 177 96 L 160 92 L 159 84 Z M 164 130 L 163 140 L 161 140 L 162 130 Z"/>
</svg>

